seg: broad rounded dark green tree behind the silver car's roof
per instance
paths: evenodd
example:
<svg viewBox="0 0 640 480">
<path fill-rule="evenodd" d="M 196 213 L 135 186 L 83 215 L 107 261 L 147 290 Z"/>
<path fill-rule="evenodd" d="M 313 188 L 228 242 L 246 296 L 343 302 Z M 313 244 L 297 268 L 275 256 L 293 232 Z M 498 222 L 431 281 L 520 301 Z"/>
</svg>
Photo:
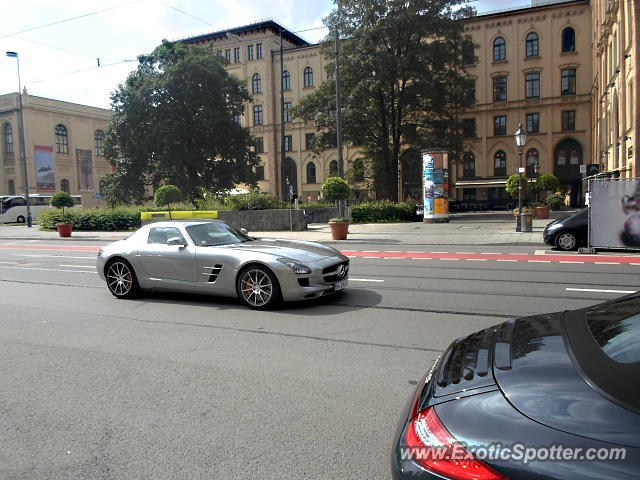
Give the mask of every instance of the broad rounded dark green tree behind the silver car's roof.
<svg viewBox="0 0 640 480">
<path fill-rule="evenodd" d="M 258 156 L 235 120 L 251 101 L 206 48 L 163 40 L 112 94 L 105 154 L 115 171 L 105 194 L 113 204 L 142 202 L 146 186 L 180 188 L 191 200 L 202 187 L 222 192 L 255 184 Z"/>
</svg>

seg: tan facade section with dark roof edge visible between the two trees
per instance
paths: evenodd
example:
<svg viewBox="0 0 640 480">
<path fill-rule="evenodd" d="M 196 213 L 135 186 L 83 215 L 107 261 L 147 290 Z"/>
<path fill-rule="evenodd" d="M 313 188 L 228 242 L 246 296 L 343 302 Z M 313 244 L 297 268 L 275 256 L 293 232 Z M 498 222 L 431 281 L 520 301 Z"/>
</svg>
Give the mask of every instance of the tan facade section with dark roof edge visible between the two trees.
<svg viewBox="0 0 640 480">
<path fill-rule="evenodd" d="M 284 172 L 282 170 L 282 122 L 280 89 L 280 34 L 283 43 L 284 87 Z M 265 21 L 230 30 L 183 40 L 207 46 L 223 58 L 227 71 L 246 81 L 253 102 L 245 105 L 238 121 L 251 129 L 255 148 L 260 154 L 257 169 L 262 191 L 278 196 L 292 189 L 302 201 L 317 201 L 325 179 L 338 172 L 337 149 L 315 155 L 312 151 L 315 124 L 293 118 L 290 108 L 297 105 L 327 80 L 326 59 L 319 45 Z M 358 148 L 345 145 L 344 167 L 347 171 L 359 161 Z"/>
</svg>

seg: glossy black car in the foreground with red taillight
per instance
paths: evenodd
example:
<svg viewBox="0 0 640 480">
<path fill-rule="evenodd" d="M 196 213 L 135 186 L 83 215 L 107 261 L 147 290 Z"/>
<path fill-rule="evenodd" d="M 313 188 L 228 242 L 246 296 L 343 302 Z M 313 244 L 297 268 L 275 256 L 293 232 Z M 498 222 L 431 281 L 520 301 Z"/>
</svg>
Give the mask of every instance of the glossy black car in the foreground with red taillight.
<svg viewBox="0 0 640 480">
<path fill-rule="evenodd" d="M 640 294 L 454 341 L 396 432 L 400 479 L 640 478 Z"/>
</svg>

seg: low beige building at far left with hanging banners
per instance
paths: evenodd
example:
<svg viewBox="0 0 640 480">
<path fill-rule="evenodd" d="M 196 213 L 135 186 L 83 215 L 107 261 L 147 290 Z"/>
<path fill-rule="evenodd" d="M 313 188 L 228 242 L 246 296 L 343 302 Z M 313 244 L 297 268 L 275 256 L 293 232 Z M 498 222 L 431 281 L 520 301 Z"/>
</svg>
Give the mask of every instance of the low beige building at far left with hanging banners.
<svg viewBox="0 0 640 480">
<path fill-rule="evenodd" d="M 22 95 L 30 193 L 64 190 L 100 204 L 101 179 L 111 171 L 103 142 L 111 111 Z M 24 194 L 17 93 L 0 96 L 0 194 Z M 102 202 L 104 205 L 104 202 Z"/>
</svg>

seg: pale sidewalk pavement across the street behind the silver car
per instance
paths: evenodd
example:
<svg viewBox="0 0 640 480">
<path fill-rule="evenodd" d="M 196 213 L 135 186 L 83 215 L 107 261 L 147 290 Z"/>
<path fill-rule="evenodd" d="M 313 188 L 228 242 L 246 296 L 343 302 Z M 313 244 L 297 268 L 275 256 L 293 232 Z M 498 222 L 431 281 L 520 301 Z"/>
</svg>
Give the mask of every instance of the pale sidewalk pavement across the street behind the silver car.
<svg viewBox="0 0 640 480">
<path fill-rule="evenodd" d="M 452 215 L 450 223 L 430 224 L 371 223 L 349 226 L 347 240 L 332 240 L 329 226 L 310 224 L 302 232 L 249 232 L 254 237 L 308 240 L 346 248 L 349 244 L 393 246 L 448 246 L 448 245 L 537 245 L 544 246 L 542 231 L 551 220 L 533 220 L 533 231 L 517 233 L 512 215 L 475 214 Z M 61 239 L 57 232 L 41 231 L 37 225 L 0 225 L 0 240 L 64 240 L 109 243 L 121 240 L 130 232 L 76 232 L 71 238 Z"/>
</svg>

